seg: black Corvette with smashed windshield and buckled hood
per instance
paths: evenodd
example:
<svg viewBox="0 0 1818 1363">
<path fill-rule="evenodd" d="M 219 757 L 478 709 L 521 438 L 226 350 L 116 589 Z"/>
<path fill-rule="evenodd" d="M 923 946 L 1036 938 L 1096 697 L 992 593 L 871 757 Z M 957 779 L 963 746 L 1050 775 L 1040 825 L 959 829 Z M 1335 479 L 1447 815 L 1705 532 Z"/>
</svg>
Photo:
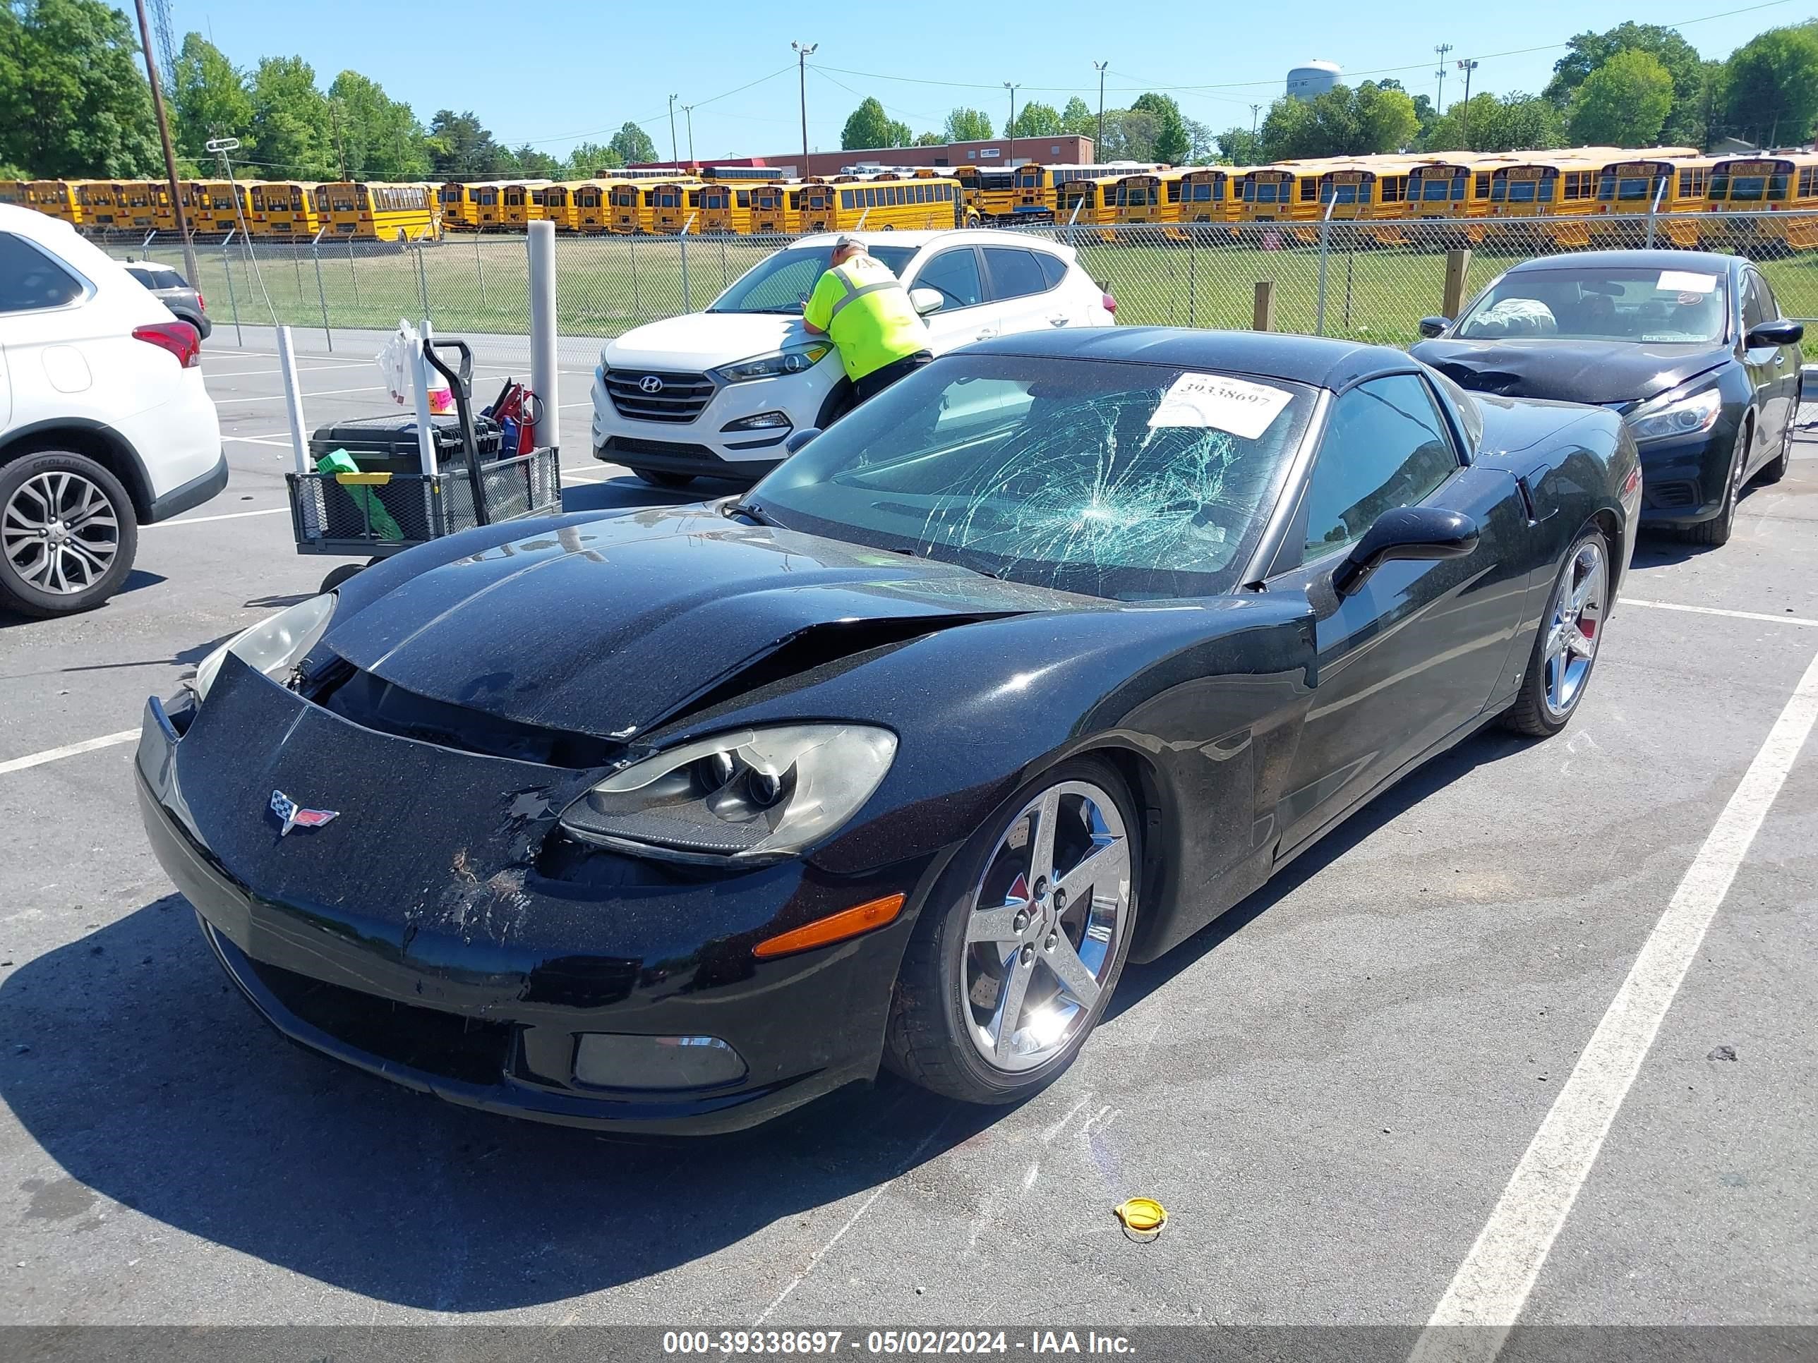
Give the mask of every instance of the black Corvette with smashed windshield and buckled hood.
<svg viewBox="0 0 1818 1363">
<path fill-rule="evenodd" d="M 936 360 L 744 500 L 485 527 L 147 703 L 145 827 L 282 1032 L 458 1103 L 724 1130 L 1013 1101 L 1127 960 L 1503 718 L 1627 567 L 1620 418 L 1118 327 Z"/>
</svg>

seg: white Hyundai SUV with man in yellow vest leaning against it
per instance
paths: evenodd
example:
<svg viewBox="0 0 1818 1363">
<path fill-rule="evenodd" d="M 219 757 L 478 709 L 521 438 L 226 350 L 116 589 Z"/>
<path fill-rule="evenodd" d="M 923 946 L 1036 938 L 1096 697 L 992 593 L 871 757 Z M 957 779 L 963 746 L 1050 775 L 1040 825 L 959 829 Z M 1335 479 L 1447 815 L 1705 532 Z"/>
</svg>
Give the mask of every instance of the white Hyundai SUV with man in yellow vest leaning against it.
<svg viewBox="0 0 1818 1363">
<path fill-rule="evenodd" d="M 991 336 L 1109 327 L 1116 302 L 1073 247 L 1002 231 L 853 233 L 896 271 L 934 354 Z M 804 236 L 745 271 L 705 313 L 627 331 L 593 376 L 593 453 L 649 483 L 756 482 L 791 436 L 831 425 L 853 385 L 802 303 L 836 234 Z"/>
</svg>

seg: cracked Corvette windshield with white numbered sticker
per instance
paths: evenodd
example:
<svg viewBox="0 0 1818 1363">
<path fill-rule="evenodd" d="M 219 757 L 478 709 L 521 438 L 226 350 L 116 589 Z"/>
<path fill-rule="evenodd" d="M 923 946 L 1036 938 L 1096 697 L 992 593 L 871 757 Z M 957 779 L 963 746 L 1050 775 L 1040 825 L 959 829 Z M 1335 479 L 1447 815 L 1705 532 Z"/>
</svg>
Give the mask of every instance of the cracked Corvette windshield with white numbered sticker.
<svg viewBox="0 0 1818 1363">
<path fill-rule="evenodd" d="M 1174 365 L 951 356 L 758 485 L 814 534 L 1118 600 L 1229 591 L 1311 389 Z"/>
</svg>

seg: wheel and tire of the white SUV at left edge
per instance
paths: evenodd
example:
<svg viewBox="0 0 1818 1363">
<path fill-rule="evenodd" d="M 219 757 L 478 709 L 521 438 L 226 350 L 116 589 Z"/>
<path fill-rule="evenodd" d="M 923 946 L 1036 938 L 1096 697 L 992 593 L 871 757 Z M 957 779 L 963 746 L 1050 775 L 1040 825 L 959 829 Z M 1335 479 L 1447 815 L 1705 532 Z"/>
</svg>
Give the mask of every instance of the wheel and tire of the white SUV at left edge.
<svg viewBox="0 0 1818 1363">
<path fill-rule="evenodd" d="M 0 611 L 93 611 L 136 552 L 133 498 L 95 460 L 38 451 L 0 465 Z"/>
</svg>

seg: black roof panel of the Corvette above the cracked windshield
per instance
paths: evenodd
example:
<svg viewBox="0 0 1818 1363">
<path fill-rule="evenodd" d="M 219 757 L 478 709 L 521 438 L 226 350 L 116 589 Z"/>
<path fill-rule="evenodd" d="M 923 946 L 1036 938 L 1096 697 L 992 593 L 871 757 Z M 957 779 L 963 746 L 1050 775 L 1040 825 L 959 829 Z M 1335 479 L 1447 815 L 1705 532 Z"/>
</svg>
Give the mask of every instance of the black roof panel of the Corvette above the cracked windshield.
<svg viewBox="0 0 1818 1363">
<path fill-rule="evenodd" d="M 1678 253 L 1683 256 L 1683 253 Z M 1416 367 L 1387 345 L 1293 336 L 1274 331 L 1194 331 L 1187 327 L 1089 327 L 1024 331 L 978 342 L 967 354 L 1025 354 L 1067 360 L 1127 360 L 1238 374 L 1287 378 L 1342 389 L 1371 374 Z"/>
</svg>

